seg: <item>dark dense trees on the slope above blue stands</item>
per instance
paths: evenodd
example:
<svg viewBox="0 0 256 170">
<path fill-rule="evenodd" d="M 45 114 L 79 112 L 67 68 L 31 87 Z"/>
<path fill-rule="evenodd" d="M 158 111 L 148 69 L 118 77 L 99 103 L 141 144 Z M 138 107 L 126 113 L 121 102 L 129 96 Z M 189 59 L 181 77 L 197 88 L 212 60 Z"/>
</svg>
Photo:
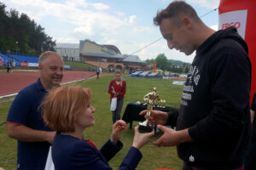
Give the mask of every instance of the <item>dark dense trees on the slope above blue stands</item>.
<svg viewBox="0 0 256 170">
<path fill-rule="evenodd" d="M 49 37 L 44 28 L 31 20 L 26 14 L 15 9 L 7 11 L 0 2 L 0 51 L 3 54 L 13 52 L 20 54 L 41 54 L 54 50 L 55 41 Z"/>
</svg>

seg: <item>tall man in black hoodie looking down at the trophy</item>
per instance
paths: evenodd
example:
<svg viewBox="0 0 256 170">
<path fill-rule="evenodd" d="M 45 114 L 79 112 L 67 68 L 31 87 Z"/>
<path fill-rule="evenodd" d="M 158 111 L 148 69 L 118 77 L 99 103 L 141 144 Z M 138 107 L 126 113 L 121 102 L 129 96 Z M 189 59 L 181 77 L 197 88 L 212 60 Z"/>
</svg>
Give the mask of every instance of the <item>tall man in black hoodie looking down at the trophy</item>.
<svg viewBox="0 0 256 170">
<path fill-rule="evenodd" d="M 148 121 L 164 132 L 154 144 L 177 145 L 184 170 L 243 169 L 250 137 L 251 63 L 246 42 L 235 27 L 213 31 L 183 1 L 160 11 L 154 24 L 169 48 L 186 55 L 196 51 L 179 112 L 151 111 Z"/>
</svg>

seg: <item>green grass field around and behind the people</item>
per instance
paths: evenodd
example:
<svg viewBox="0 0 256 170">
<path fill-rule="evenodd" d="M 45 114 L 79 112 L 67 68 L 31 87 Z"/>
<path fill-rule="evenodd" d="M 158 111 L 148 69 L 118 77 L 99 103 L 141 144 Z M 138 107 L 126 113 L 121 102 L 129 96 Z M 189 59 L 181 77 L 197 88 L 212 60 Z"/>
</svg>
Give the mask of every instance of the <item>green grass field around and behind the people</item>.
<svg viewBox="0 0 256 170">
<path fill-rule="evenodd" d="M 109 94 L 107 92 L 108 83 L 113 79 L 113 76 L 104 76 L 100 80 L 90 79 L 84 82 L 74 82 L 70 85 L 82 86 L 91 88 L 93 97 L 91 104 L 96 108 L 96 126 L 89 127 L 84 130 L 84 138 L 92 139 L 98 148 L 104 144 L 110 137 L 112 130 L 112 115 L 109 111 Z M 180 103 L 182 86 L 172 85 L 172 80 L 154 80 L 143 78 L 124 77 L 127 83 L 125 94 L 125 102 L 122 113 L 125 111 L 125 106 L 130 102 L 138 100 L 143 101 L 143 96 L 152 92 L 153 88 L 157 88 L 157 94 L 161 99 L 166 99 L 166 105 L 177 108 Z M 6 120 L 7 113 L 11 101 L 9 99 L 0 100 L 0 123 Z M 138 122 L 133 122 L 136 126 Z M 129 125 L 128 125 L 129 126 Z M 121 141 L 124 144 L 123 150 L 113 157 L 109 164 L 113 169 L 118 169 L 121 161 L 124 159 L 127 151 L 130 149 L 133 140 L 133 129 L 123 133 Z M 137 169 L 157 169 L 170 168 L 179 170 L 182 168 L 182 161 L 177 157 L 175 147 L 157 147 L 152 142 L 160 137 L 161 133 L 157 133 L 151 141 L 141 150 L 143 159 L 140 161 Z M 6 134 L 6 127 L 0 127 L 0 167 L 5 169 L 15 169 L 16 165 L 16 141 L 9 139 Z"/>
</svg>

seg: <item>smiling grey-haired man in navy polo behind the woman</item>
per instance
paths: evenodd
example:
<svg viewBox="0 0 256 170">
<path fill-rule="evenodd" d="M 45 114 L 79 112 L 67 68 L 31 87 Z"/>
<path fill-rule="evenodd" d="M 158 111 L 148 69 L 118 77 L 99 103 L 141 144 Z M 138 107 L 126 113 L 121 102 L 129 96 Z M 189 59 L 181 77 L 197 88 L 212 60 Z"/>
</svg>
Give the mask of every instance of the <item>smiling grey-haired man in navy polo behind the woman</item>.
<svg viewBox="0 0 256 170">
<path fill-rule="evenodd" d="M 44 170 L 49 145 L 55 137 L 55 132 L 44 124 L 39 105 L 51 88 L 60 86 L 63 77 L 61 55 L 44 52 L 39 57 L 38 70 L 38 81 L 20 91 L 7 117 L 7 133 L 18 140 L 19 170 Z"/>
</svg>

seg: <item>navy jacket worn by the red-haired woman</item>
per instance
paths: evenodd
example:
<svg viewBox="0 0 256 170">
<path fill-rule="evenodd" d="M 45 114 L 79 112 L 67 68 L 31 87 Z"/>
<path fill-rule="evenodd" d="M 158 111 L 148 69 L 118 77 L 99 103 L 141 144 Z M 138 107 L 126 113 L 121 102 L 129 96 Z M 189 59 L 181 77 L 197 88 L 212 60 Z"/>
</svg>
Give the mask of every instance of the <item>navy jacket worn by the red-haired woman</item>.
<svg viewBox="0 0 256 170">
<path fill-rule="evenodd" d="M 55 170 L 105 170 L 112 169 L 108 161 L 121 150 L 123 144 L 119 141 L 114 145 L 108 139 L 101 150 L 97 150 L 92 144 L 70 135 L 56 133 L 52 144 L 52 159 Z M 139 150 L 131 147 L 119 169 L 135 169 L 142 159 Z"/>
</svg>

